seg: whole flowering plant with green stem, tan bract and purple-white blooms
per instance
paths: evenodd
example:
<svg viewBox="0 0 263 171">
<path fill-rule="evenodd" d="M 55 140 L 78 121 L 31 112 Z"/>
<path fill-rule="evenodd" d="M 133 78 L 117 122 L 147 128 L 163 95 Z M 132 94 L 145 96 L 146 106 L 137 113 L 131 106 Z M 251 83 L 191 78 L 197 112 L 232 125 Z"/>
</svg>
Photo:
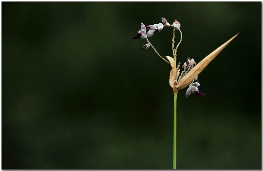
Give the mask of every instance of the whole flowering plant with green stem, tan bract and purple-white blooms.
<svg viewBox="0 0 263 171">
<path fill-rule="evenodd" d="M 226 43 L 222 44 L 220 47 L 218 47 L 215 51 L 207 55 L 201 62 L 196 64 L 194 59 L 187 58 L 187 62 L 183 64 L 184 70 L 181 72 L 180 75 L 180 62 L 178 66 L 176 67 L 176 53 L 179 45 L 182 42 L 183 34 L 180 30 L 181 24 L 178 21 L 174 21 L 172 25 L 170 25 L 165 18 L 160 19 L 162 23 L 154 24 L 154 25 L 144 25 L 141 23 L 141 29 L 137 32 L 137 35 L 134 35 L 132 39 L 146 39 L 148 44 L 143 45 L 141 48 L 148 49 L 150 46 L 153 48 L 155 53 L 161 57 L 162 60 L 166 61 L 168 64 L 172 66 L 172 70 L 170 71 L 170 79 L 169 84 L 172 87 L 172 90 L 174 92 L 174 142 L 173 142 L 173 169 L 176 169 L 176 101 L 177 101 L 177 94 L 178 91 L 189 86 L 185 96 L 186 98 L 193 94 L 195 96 L 204 96 L 204 93 L 200 92 L 200 82 L 198 81 L 198 74 L 204 70 L 204 68 L 239 34 L 236 34 L 234 37 L 232 37 L 230 40 L 228 40 Z M 170 56 L 165 56 L 167 60 L 165 60 L 153 47 L 153 45 L 149 42 L 148 38 L 153 36 L 154 34 L 159 34 L 159 32 L 165 27 L 172 27 L 173 28 L 173 38 L 172 38 L 172 54 L 173 58 Z M 146 33 L 146 29 L 149 31 Z M 174 31 L 179 30 L 181 34 L 181 39 L 179 43 L 177 44 L 176 48 L 174 49 Z M 180 77 L 179 77 L 180 75 Z M 189 84 L 190 83 L 190 84 Z"/>
</svg>

